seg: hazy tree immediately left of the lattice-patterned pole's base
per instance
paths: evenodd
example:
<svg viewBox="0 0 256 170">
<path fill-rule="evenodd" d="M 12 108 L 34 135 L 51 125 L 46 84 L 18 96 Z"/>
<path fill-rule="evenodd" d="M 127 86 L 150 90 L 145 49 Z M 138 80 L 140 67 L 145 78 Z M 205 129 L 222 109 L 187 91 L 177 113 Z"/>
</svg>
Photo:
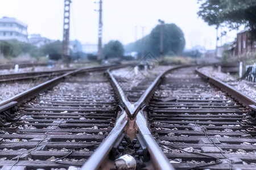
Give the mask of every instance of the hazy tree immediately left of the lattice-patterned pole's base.
<svg viewBox="0 0 256 170">
<path fill-rule="evenodd" d="M 62 49 L 62 44 L 59 40 L 50 42 L 41 47 L 41 50 L 44 53 L 44 55 L 48 54 L 50 59 L 55 59 L 55 60 L 61 59 L 61 49 Z"/>
</svg>

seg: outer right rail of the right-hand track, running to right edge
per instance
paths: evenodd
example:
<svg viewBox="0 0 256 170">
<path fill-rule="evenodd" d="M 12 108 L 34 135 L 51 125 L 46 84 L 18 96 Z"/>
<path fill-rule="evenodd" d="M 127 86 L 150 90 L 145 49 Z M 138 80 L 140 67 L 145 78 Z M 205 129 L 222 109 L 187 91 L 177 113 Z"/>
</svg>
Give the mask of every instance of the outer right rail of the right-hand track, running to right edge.
<svg viewBox="0 0 256 170">
<path fill-rule="evenodd" d="M 209 83 L 212 83 L 214 86 L 220 88 L 221 90 L 225 91 L 230 97 L 238 100 L 244 107 L 249 108 L 249 105 L 255 105 L 256 100 L 252 99 L 251 97 L 242 94 L 241 91 L 229 86 L 229 84 L 222 82 L 212 76 L 204 74 L 200 71 L 201 67 L 197 67 L 196 73 L 199 74 L 202 78 L 206 79 Z"/>
</svg>

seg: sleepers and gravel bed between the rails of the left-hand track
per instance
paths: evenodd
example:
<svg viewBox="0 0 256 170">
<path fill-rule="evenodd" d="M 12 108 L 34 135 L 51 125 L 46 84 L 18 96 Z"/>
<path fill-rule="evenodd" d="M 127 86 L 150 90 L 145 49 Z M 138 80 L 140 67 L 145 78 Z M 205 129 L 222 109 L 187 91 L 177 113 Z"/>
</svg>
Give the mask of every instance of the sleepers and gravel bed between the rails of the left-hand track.
<svg viewBox="0 0 256 170">
<path fill-rule="evenodd" d="M 76 75 L 20 105 L 22 121 L 13 122 L 16 126 L 4 130 L 9 134 L 1 135 L 6 160 L 0 164 L 26 164 L 27 169 L 82 165 L 115 121 L 116 101 L 102 74 Z"/>
</svg>

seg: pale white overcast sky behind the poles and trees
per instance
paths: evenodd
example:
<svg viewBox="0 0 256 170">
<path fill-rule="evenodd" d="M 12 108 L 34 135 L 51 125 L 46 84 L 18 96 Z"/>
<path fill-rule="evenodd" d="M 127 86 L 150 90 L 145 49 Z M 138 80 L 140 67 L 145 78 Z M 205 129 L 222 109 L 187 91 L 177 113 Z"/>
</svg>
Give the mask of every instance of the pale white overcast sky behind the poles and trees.
<svg viewBox="0 0 256 170">
<path fill-rule="evenodd" d="M 121 41 L 123 45 L 148 35 L 158 19 L 175 23 L 184 33 L 186 49 L 216 46 L 216 29 L 199 18 L 197 0 L 102 0 L 102 41 Z M 97 44 L 98 1 L 72 0 L 70 39 Z M 0 18 L 14 17 L 28 25 L 28 34 L 52 40 L 63 39 L 64 0 L 0 0 Z M 137 27 L 137 33 L 135 31 Z M 223 28 L 223 30 L 227 30 Z M 220 30 L 218 31 L 220 33 Z M 228 32 L 222 44 L 234 41 L 237 31 Z M 221 41 L 218 41 L 221 45 Z"/>
</svg>

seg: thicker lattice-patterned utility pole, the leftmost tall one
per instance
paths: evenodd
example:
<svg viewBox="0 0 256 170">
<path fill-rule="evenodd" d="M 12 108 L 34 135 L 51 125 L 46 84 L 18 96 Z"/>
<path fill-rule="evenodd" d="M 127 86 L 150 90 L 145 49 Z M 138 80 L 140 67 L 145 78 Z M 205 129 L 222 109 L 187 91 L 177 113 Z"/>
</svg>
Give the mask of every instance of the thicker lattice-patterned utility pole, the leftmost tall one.
<svg viewBox="0 0 256 170">
<path fill-rule="evenodd" d="M 69 63 L 69 16 L 70 16 L 70 3 L 71 0 L 64 0 L 64 24 L 63 24 L 63 41 L 61 58 L 65 66 L 68 67 Z"/>
</svg>

